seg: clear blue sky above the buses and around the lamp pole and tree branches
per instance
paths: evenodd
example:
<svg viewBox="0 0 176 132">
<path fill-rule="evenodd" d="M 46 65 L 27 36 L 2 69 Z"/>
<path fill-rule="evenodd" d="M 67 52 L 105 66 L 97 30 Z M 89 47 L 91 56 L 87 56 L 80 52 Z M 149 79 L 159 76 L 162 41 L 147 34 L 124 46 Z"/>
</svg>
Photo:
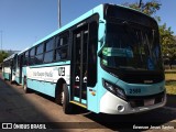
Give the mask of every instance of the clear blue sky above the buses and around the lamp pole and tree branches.
<svg viewBox="0 0 176 132">
<path fill-rule="evenodd" d="M 101 3 L 122 4 L 140 0 L 61 0 L 62 25 Z M 147 0 L 143 0 L 146 2 Z M 158 0 L 156 15 L 176 35 L 176 0 Z M 57 0 L 0 0 L 0 50 L 22 51 L 58 29 Z"/>
</svg>

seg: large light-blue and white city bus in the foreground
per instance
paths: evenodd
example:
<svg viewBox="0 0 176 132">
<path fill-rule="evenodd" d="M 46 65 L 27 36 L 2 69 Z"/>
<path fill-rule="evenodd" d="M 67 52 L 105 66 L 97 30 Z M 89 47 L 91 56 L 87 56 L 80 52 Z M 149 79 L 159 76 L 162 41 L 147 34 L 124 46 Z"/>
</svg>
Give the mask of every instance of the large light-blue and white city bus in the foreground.
<svg viewBox="0 0 176 132">
<path fill-rule="evenodd" d="M 100 4 L 18 54 L 16 80 L 55 98 L 65 113 L 77 105 L 129 114 L 166 103 L 156 21 L 133 9 Z"/>
</svg>

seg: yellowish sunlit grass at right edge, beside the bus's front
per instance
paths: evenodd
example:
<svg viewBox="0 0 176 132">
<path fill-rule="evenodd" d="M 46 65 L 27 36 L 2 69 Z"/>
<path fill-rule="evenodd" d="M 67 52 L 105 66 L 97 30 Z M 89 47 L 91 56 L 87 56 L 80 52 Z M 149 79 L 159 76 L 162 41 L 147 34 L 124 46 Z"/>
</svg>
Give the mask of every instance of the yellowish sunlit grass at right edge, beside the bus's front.
<svg viewBox="0 0 176 132">
<path fill-rule="evenodd" d="M 176 95 L 176 73 L 170 74 L 166 73 L 165 74 L 165 79 L 166 79 L 166 91 L 168 95 Z"/>
</svg>

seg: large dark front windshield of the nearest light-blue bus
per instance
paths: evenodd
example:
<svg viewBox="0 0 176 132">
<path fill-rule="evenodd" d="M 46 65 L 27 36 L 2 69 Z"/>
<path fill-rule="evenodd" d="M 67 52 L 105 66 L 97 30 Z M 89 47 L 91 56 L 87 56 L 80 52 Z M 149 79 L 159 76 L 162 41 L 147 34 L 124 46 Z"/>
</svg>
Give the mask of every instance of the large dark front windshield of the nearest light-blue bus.
<svg viewBox="0 0 176 132">
<path fill-rule="evenodd" d="M 107 23 L 105 65 L 116 69 L 162 69 L 157 29 L 123 22 Z"/>
</svg>

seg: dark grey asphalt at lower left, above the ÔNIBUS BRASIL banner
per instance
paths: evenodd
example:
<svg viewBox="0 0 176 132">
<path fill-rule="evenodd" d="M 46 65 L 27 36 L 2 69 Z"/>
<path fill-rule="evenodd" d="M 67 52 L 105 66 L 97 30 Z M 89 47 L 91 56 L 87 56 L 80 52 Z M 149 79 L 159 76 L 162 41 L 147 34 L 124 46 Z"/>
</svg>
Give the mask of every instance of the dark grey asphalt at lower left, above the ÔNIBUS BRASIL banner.
<svg viewBox="0 0 176 132">
<path fill-rule="evenodd" d="M 0 122 L 50 121 L 14 84 L 0 78 Z"/>
</svg>

